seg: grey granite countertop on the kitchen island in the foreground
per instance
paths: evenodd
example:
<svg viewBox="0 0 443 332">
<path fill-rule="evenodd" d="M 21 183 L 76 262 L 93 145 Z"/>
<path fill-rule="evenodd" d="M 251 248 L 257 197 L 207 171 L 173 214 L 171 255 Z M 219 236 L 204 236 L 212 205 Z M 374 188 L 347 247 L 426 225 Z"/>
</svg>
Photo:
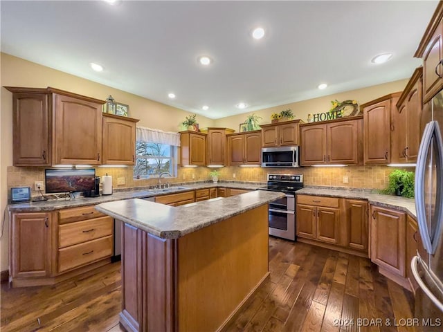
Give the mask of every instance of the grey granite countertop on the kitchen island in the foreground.
<svg viewBox="0 0 443 332">
<path fill-rule="evenodd" d="M 96 210 L 162 239 L 178 239 L 219 221 L 284 197 L 282 192 L 257 190 L 172 207 L 142 199 L 100 203 Z"/>
</svg>

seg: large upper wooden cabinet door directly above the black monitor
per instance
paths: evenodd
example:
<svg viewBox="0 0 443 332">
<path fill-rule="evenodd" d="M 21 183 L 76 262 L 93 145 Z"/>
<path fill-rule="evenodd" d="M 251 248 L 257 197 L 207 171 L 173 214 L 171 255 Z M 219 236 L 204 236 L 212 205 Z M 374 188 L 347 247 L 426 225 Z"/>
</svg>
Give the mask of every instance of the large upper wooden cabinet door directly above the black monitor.
<svg viewBox="0 0 443 332">
<path fill-rule="evenodd" d="M 102 163 L 102 105 L 53 94 L 54 164 Z"/>
</svg>

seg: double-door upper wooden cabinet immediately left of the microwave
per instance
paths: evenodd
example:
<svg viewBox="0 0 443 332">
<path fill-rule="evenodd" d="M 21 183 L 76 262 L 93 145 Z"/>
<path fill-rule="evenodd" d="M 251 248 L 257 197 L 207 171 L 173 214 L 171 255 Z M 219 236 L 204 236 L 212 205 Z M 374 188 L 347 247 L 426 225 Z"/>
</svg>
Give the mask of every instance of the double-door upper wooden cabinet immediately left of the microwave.
<svg viewBox="0 0 443 332">
<path fill-rule="evenodd" d="M 228 137 L 228 165 L 260 165 L 262 131 L 232 133 Z"/>
</svg>

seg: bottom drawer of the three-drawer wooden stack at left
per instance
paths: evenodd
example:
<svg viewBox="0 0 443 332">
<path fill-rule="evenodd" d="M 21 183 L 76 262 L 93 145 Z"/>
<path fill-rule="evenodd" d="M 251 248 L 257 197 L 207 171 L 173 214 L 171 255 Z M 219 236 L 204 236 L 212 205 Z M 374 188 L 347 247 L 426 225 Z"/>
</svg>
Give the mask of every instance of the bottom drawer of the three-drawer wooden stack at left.
<svg viewBox="0 0 443 332">
<path fill-rule="evenodd" d="M 112 236 L 102 237 L 58 250 L 58 272 L 112 256 Z"/>
</svg>

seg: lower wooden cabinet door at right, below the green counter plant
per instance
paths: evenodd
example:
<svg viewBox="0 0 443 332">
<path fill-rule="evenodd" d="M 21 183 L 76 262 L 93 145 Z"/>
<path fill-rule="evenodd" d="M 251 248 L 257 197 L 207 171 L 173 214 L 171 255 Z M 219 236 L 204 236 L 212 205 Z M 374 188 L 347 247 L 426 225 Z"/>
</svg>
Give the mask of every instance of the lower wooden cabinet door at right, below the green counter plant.
<svg viewBox="0 0 443 332">
<path fill-rule="evenodd" d="M 371 260 L 405 276 L 406 216 L 404 212 L 371 206 Z"/>
</svg>

